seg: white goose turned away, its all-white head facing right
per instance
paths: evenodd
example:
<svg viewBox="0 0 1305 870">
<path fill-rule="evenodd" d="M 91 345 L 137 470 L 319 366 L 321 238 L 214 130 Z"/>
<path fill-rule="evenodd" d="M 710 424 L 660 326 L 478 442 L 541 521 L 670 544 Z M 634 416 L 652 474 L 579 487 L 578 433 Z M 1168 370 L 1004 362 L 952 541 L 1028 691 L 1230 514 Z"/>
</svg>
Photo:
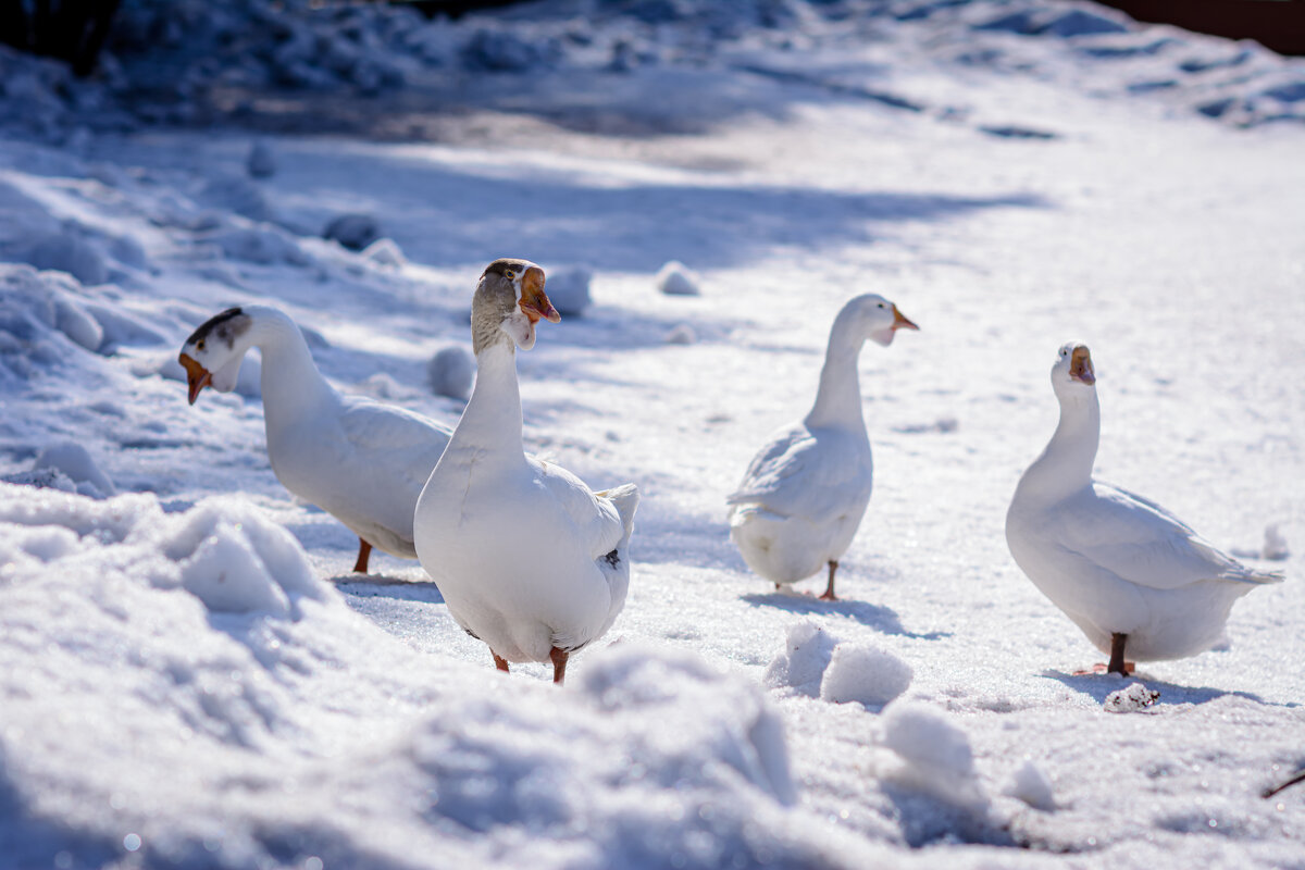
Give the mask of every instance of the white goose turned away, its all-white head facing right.
<svg viewBox="0 0 1305 870">
<path fill-rule="evenodd" d="M 865 339 L 887 346 L 899 329 L 919 329 L 897 305 L 867 293 L 834 318 L 816 404 L 766 442 L 726 502 L 729 537 L 748 567 L 779 588 L 829 565 L 822 599 L 870 502 L 874 467 L 861 416 L 856 363 Z"/>
</svg>

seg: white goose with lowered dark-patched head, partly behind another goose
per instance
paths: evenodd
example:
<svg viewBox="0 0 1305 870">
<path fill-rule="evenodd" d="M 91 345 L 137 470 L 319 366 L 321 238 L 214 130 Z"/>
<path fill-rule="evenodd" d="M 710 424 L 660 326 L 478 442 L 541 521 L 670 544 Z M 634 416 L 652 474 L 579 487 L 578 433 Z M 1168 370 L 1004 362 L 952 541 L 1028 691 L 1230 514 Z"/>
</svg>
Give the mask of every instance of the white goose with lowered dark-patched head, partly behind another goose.
<svg viewBox="0 0 1305 870">
<path fill-rule="evenodd" d="M 251 347 L 262 351 L 268 459 L 281 484 L 358 535 L 354 570 L 372 548 L 416 558 L 412 511 L 452 430 L 361 397 L 341 395 L 313 364 L 303 333 L 266 305 L 231 308 L 185 340 L 191 404 L 206 386 L 235 389 Z"/>
</svg>

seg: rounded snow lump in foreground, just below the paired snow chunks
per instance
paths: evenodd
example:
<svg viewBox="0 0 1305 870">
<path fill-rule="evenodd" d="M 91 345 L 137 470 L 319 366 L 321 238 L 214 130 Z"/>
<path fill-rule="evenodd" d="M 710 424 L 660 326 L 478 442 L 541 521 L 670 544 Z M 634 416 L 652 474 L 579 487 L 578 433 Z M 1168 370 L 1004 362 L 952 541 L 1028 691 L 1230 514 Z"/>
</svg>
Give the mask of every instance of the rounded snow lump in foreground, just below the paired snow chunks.
<svg viewBox="0 0 1305 870">
<path fill-rule="evenodd" d="M 880 742 L 897 760 L 886 779 L 970 811 L 987 807 L 970 738 L 942 713 L 910 700 L 889 704 Z"/>
</svg>

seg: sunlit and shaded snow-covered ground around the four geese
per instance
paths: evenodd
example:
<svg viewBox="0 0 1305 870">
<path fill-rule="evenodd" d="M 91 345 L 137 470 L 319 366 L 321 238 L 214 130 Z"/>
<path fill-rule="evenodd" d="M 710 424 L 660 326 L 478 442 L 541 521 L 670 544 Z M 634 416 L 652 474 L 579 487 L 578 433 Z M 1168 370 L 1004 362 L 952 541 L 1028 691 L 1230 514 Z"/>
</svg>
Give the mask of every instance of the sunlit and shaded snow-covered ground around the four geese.
<svg viewBox="0 0 1305 870">
<path fill-rule="evenodd" d="M 1118 20 L 1083 4 L 711 5 L 355 27 L 444 65 L 253 100 L 257 134 L 142 125 L 145 61 L 43 90 L 4 56 L 0 866 L 1302 866 L 1305 789 L 1259 797 L 1305 764 L 1305 129 L 1263 123 L 1298 61 L 1048 23 Z M 1236 112 L 1191 111 L 1215 83 Z M 365 123 L 266 132 L 318 99 Z M 364 136 L 395 117 L 438 141 Z M 495 673 L 416 562 L 348 573 L 252 360 L 194 407 L 175 360 L 271 301 L 342 390 L 453 424 L 431 361 L 499 256 L 582 310 L 518 355 L 530 449 L 643 494 L 625 612 L 560 690 Z M 724 496 L 861 292 L 921 330 L 863 352 L 876 488 L 830 604 L 746 570 Z M 1129 681 L 1073 676 L 1100 656 L 1002 532 L 1070 339 L 1098 473 L 1288 575 Z M 1135 681 L 1155 703 L 1107 702 Z"/>
</svg>

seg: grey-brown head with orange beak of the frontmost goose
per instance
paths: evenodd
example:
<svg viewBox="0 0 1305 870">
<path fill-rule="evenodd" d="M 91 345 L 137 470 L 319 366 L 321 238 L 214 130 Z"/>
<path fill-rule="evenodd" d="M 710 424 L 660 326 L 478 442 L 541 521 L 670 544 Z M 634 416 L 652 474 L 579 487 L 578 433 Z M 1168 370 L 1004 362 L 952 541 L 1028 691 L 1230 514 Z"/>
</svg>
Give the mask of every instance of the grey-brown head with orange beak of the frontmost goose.
<svg viewBox="0 0 1305 870">
<path fill-rule="evenodd" d="M 480 275 L 471 303 L 472 350 L 479 353 L 502 330 L 523 351 L 535 346 L 535 323 L 561 321 L 544 295 L 544 270 L 529 260 L 501 258 Z"/>
</svg>

